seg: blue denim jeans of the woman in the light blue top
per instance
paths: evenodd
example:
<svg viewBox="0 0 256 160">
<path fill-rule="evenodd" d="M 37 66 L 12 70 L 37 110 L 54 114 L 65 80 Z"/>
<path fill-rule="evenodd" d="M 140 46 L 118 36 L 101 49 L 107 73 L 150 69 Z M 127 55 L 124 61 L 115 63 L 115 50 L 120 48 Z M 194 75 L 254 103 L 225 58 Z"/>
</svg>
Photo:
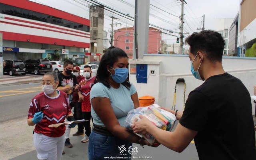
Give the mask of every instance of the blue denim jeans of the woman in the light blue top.
<svg viewBox="0 0 256 160">
<path fill-rule="evenodd" d="M 118 150 L 118 147 L 123 146 L 126 151 Z M 101 134 L 92 133 L 90 134 L 89 146 L 88 146 L 88 157 L 89 160 L 104 160 L 104 157 L 131 157 L 128 153 L 128 148 L 132 146 L 132 142 L 121 140 L 114 136 L 104 136 Z M 124 148 L 123 147 L 123 148 Z M 115 160 L 119 160 L 118 158 Z"/>
</svg>

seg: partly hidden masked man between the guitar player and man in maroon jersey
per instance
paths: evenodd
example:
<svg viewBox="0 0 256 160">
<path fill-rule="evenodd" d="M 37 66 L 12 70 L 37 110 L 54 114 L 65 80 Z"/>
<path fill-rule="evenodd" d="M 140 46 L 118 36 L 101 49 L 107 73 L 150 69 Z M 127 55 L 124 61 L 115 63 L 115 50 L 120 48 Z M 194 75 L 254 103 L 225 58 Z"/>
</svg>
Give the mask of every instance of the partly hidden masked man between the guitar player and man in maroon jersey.
<svg viewBox="0 0 256 160">
<path fill-rule="evenodd" d="M 75 66 L 73 68 L 73 74 L 76 76 L 78 84 L 84 80 L 84 76 L 80 75 L 80 68 Z M 73 93 L 73 102 L 74 102 L 74 118 L 76 120 L 82 120 L 82 101 L 84 100 L 84 96 L 79 91 L 78 93 Z M 79 136 L 84 134 L 84 125 L 82 123 L 78 123 L 78 131 L 73 134 L 73 136 Z"/>
</svg>

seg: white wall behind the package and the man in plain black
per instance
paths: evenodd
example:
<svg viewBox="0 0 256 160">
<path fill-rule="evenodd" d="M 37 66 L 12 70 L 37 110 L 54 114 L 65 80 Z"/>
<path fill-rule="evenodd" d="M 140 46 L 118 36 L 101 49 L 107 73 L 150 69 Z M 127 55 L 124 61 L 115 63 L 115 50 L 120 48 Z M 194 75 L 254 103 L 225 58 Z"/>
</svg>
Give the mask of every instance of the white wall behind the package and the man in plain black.
<svg viewBox="0 0 256 160">
<path fill-rule="evenodd" d="M 253 86 L 256 86 L 256 58 L 233 58 L 224 57 L 222 60 L 224 70 L 236 76 L 253 95 Z M 188 94 L 203 81 L 196 80 L 190 72 L 190 61 L 187 55 L 148 55 L 144 54 L 143 61 L 130 61 L 130 64 L 148 64 L 148 83 L 136 82 L 136 75 L 130 75 L 132 82 L 138 91 L 138 96 L 150 95 L 156 98 L 157 104 L 171 107 L 174 98 L 176 80 L 184 78 L 186 81 L 186 99 Z M 156 70 L 155 76 L 150 70 Z M 184 85 L 178 84 L 176 95 L 176 108 L 183 110 Z M 254 114 L 255 104 L 252 101 Z"/>
</svg>

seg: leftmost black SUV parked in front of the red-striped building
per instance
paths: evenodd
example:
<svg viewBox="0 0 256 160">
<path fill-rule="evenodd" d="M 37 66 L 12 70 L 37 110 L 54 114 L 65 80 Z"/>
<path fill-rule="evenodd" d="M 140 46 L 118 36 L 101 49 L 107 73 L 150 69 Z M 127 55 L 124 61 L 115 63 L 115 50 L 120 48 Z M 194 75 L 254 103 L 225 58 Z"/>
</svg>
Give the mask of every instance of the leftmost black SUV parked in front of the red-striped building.
<svg viewBox="0 0 256 160">
<path fill-rule="evenodd" d="M 16 73 L 26 75 L 26 68 L 22 60 L 5 60 L 4 73 L 14 76 Z"/>
</svg>

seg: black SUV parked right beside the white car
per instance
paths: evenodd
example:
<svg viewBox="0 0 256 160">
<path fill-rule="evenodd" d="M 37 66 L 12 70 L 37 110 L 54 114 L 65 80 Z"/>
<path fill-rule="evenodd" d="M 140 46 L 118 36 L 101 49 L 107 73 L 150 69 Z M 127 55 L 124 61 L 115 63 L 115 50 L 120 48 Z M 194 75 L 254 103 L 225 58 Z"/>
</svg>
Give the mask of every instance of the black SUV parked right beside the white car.
<svg viewBox="0 0 256 160">
<path fill-rule="evenodd" d="M 41 72 L 46 73 L 52 71 L 52 64 L 50 60 L 29 59 L 24 63 L 27 72 L 34 72 L 34 74 L 39 74 Z"/>
</svg>

